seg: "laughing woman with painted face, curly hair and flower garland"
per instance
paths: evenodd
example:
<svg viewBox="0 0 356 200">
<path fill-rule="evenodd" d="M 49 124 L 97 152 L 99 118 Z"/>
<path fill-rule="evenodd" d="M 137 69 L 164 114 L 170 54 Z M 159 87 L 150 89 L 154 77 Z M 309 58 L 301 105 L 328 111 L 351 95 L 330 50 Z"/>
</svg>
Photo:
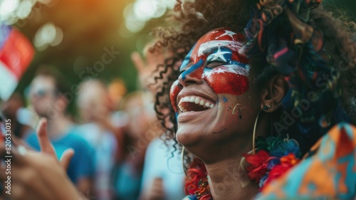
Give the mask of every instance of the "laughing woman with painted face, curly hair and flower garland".
<svg viewBox="0 0 356 200">
<path fill-rule="evenodd" d="M 356 196 L 353 22 L 320 3 L 178 1 L 157 29 L 156 48 L 177 52 L 156 110 L 183 146 L 187 199 Z"/>
</svg>

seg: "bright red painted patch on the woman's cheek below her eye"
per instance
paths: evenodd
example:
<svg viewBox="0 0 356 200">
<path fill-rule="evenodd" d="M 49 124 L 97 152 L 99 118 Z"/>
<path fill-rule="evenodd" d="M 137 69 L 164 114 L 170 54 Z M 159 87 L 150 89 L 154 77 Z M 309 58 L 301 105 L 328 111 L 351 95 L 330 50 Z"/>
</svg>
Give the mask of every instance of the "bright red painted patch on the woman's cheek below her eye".
<svg viewBox="0 0 356 200">
<path fill-rule="evenodd" d="M 211 73 L 205 80 L 216 94 L 242 95 L 248 90 L 248 78 L 236 73 Z"/>
</svg>

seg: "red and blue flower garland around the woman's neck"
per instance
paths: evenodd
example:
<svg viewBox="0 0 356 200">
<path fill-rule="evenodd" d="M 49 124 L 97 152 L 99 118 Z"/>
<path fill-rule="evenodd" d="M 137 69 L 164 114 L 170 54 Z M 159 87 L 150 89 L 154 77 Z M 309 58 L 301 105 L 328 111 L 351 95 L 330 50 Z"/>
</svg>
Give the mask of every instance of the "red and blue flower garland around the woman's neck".
<svg viewBox="0 0 356 200">
<path fill-rule="evenodd" d="M 273 179 L 281 177 L 300 162 L 301 153 L 296 140 L 282 137 L 258 137 L 256 154 L 242 154 L 249 166 L 245 169 L 248 178 L 256 181 L 261 190 Z M 204 163 L 195 158 L 187 171 L 185 184 L 187 200 L 211 200 L 208 174 Z M 186 200 L 184 199 L 184 200 Z"/>
</svg>

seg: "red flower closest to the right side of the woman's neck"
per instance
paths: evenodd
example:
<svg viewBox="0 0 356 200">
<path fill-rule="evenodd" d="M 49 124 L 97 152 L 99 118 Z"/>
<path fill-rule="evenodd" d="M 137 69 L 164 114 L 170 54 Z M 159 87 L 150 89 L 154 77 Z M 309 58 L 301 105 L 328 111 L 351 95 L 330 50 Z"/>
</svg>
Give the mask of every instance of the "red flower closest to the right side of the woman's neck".
<svg viewBox="0 0 356 200">
<path fill-rule="evenodd" d="M 268 152 L 260 150 L 256 154 L 242 154 L 242 156 L 245 157 L 246 162 L 250 164 L 250 166 L 246 168 L 248 178 L 258 183 L 268 171 Z"/>
</svg>

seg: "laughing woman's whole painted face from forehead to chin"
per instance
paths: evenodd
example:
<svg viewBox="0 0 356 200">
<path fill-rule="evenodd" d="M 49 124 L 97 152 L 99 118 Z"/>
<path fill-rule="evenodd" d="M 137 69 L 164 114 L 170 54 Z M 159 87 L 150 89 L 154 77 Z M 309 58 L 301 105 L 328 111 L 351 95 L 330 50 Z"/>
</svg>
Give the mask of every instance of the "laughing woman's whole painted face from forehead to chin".
<svg viewBox="0 0 356 200">
<path fill-rule="evenodd" d="M 251 127 L 244 122 L 257 112 L 259 102 L 248 96 L 257 98 L 259 93 L 254 84 L 250 89 L 253 71 L 250 74 L 248 58 L 239 53 L 244 40 L 226 28 L 210 31 L 182 62 L 170 100 L 176 112 L 177 141 L 189 151 L 242 141 Z"/>
</svg>

